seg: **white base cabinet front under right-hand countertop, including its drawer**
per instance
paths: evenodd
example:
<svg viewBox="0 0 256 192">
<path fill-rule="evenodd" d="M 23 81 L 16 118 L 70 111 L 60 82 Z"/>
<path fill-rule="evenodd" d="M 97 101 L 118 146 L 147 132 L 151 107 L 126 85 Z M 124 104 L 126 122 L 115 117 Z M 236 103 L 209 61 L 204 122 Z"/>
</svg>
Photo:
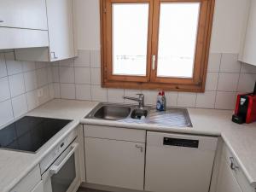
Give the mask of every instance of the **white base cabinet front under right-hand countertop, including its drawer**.
<svg viewBox="0 0 256 192">
<path fill-rule="evenodd" d="M 217 192 L 255 192 L 238 165 L 236 158 L 224 145 L 218 172 Z"/>
</svg>

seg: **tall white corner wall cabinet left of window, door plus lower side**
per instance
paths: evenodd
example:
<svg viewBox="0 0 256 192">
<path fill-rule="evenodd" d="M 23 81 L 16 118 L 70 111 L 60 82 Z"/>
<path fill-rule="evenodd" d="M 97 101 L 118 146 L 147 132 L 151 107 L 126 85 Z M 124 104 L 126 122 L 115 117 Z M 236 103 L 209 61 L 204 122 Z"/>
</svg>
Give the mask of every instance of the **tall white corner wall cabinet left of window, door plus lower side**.
<svg viewBox="0 0 256 192">
<path fill-rule="evenodd" d="M 20 61 L 59 61 L 75 56 L 73 1 L 46 0 L 49 47 L 15 49 Z"/>
</svg>

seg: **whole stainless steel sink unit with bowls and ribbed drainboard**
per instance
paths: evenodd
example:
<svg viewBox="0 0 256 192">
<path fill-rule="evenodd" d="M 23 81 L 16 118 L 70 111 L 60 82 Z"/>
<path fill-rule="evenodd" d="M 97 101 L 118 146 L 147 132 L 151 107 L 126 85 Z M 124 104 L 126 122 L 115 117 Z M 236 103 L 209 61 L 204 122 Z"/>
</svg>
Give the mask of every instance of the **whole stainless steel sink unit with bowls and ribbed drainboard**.
<svg viewBox="0 0 256 192">
<path fill-rule="evenodd" d="M 186 108 L 167 108 L 157 111 L 154 107 L 138 108 L 137 105 L 99 103 L 85 119 L 114 120 L 131 124 L 152 124 L 176 127 L 192 127 Z"/>
</svg>

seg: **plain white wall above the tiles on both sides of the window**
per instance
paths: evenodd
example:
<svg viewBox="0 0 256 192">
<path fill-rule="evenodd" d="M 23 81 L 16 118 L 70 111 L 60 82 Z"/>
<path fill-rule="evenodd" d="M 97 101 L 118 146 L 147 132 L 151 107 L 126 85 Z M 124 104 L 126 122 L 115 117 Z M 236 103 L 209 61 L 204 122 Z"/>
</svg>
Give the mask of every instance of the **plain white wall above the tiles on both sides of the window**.
<svg viewBox="0 0 256 192">
<path fill-rule="evenodd" d="M 74 0 L 79 49 L 100 49 L 98 0 Z M 248 0 L 216 0 L 212 53 L 239 53 Z"/>
</svg>

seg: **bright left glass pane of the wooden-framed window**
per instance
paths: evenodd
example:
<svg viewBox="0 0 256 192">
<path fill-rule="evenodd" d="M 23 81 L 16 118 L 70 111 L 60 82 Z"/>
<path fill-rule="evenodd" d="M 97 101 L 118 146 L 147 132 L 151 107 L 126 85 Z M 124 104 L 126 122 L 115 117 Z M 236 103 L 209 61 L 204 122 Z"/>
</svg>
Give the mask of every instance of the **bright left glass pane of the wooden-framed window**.
<svg viewBox="0 0 256 192">
<path fill-rule="evenodd" d="M 148 3 L 113 3 L 113 74 L 146 76 Z"/>
</svg>

